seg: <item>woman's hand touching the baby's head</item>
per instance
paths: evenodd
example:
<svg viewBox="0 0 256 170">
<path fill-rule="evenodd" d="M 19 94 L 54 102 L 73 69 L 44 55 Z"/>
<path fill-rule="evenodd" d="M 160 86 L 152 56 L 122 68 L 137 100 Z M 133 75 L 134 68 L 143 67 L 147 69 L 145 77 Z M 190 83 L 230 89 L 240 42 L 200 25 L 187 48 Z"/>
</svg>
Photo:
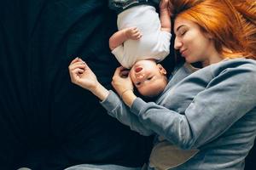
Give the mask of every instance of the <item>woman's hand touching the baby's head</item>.
<svg viewBox="0 0 256 170">
<path fill-rule="evenodd" d="M 131 107 L 137 97 L 133 94 L 133 84 L 129 72 L 124 67 L 120 66 L 115 70 L 112 85 L 125 104 Z"/>
</svg>

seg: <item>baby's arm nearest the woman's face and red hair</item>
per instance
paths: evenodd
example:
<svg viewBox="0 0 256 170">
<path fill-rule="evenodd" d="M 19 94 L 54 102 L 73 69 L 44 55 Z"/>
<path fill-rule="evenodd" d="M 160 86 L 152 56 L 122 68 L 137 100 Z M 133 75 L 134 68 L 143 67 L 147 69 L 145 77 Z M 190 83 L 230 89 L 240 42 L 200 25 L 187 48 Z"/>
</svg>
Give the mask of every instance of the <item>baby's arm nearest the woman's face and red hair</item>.
<svg viewBox="0 0 256 170">
<path fill-rule="evenodd" d="M 161 30 L 171 32 L 172 23 L 171 16 L 169 13 L 169 1 L 161 0 L 160 2 L 160 22 L 161 22 Z"/>
</svg>

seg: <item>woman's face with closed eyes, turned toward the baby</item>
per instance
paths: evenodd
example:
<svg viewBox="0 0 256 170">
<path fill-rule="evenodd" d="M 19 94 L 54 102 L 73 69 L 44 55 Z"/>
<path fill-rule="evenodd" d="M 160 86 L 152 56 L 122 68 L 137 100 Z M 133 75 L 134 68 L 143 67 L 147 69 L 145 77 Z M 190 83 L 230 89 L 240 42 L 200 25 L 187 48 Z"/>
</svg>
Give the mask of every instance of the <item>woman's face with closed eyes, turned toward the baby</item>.
<svg viewBox="0 0 256 170">
<path fill-rule="evenodd" d="M 203 65 L 210 65 L 219 57 L 210 36 L 194 22 L 177 17 L 174 33 L 174 48 L 188 63 L 202 62 Z"/>
</svg>

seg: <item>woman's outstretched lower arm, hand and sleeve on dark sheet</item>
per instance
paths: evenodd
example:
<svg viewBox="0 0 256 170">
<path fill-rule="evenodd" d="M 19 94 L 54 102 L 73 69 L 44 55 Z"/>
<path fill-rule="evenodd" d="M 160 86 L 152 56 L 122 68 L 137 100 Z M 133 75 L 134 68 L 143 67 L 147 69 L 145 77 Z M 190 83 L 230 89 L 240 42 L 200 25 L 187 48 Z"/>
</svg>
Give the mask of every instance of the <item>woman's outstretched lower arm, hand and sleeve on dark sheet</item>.
<svg viewBox="0 0 256 170">
<path fill-rule="evenodd" d="M 68 67 L 71 81 L 82 88 L 89 90 L 101 100 L 102 106 L 123 124 L 130 126 L 131 130 L 137 131 L 143 135 L 151 135 L 152 130 L 144 127 L 139 122 L 138 117 L 131 113 L 130 109 L 119 99 L 112 91 L 108 91 L 97 81 L 95 74 L 82 59 L 73 59 Z"/>
</svg>

